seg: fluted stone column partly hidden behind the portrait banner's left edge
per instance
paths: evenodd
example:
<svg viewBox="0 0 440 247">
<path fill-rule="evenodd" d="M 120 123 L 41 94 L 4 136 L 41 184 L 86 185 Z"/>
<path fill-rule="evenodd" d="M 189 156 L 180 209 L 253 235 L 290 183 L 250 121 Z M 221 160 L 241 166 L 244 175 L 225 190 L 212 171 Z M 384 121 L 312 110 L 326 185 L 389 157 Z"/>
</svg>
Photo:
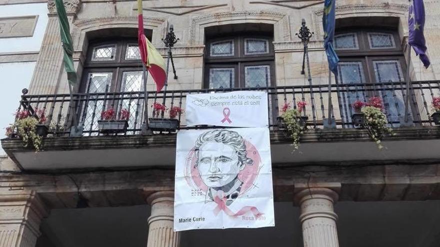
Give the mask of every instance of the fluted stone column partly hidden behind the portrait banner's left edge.
<svg viewBox="0 0 440 247">
<path fill-rule="evenodd" d="M 155 192 L 148 196 L 147 202 L 151 205 L 147 247 L 178 247 L 180 234 L 173 230 L 174 192 Z"/>
</svg>

